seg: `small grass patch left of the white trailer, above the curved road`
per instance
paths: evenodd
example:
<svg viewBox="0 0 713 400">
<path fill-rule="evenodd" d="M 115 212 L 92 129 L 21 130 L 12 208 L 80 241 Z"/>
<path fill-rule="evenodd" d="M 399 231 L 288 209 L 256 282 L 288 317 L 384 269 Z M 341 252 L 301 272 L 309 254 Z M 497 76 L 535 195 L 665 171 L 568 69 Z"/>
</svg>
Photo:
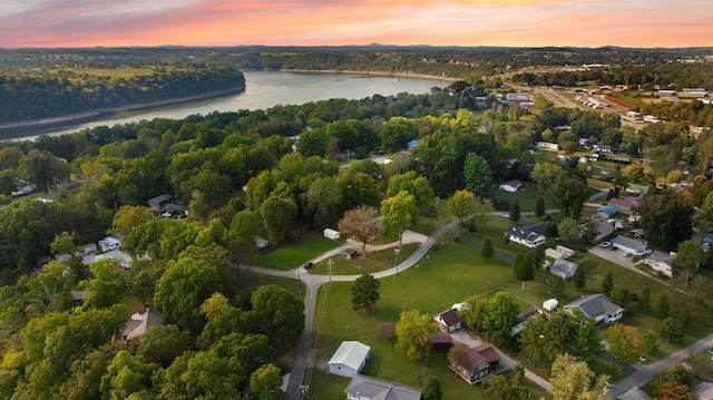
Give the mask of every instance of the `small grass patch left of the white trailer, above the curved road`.
<svg viewBox="0 0 713 400">
<path fill-rule="evenodd" d="M 264 254 L 255 258 L 255 264 L 280 271 L 290 271 L 302 266 L 310 258 L 340 246 L 344 241 L 344 237 L 333 241 L 324 237 L 321 232 L 312 233 L 302 237 L 297 243 L 276 248 L 268 247 Z"/>
</svg>

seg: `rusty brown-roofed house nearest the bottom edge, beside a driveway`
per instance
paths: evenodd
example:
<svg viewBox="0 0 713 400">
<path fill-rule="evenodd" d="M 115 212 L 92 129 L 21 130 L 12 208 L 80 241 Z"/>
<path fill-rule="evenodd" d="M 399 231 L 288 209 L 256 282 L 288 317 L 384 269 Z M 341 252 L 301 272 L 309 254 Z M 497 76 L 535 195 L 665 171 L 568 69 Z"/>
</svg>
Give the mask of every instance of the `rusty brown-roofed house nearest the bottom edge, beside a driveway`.
<svg viewBox="0 0 713 400">
<path fill-rule="evenodd" d="M 448 367 L 470 384 L 478 383 L 490 373 L 495 373 L 499 362 L 500 354 L 487 344 L 471 349 L 463 343 L 457 343 L 448 352 Z"/>
</svg>

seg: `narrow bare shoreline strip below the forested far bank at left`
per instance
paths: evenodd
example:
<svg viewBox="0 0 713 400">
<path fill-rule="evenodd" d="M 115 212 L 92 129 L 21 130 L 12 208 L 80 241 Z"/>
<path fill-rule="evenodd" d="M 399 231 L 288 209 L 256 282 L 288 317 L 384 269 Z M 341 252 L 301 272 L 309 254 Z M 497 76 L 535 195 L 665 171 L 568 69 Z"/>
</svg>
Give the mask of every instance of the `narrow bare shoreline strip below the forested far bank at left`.
<svg viewBox="0 0 713 400">
<path fill-rule="evenodd" d="M 61 117 L 31 119 L 31 120 L 23 120 L 23 121 L 17 121 L 17 123 L 6 123 L 6 124 L 0 124 L 0 131 L 8 130 L 8 129 L 18 129 L 18 128 L 22 129 L 22 128 L 51 126 L 51 125 L 58 125 L 58 124 L 68 124 L 72 121 L 80 121 L 84 119 L 100 117 L 107 114 L 136 111 L 141 109 L 154 109 L 154 108 L 160 108 L 164 106 L 175 106 L 179 104 L 206 100 L 215 97 L 238 94 L 242 91 L 245 91 L 245 85 L 243 85 L 240 88 L 212 91 L 203 95 L 195 95 L 195 96 L 188 96 L 188 97 L 165 99 L 165 100 L 158 100 L 158 101 L 152 101 L 152 103 L 141 103 L 141 104 L 134 104 L 134 105 L 126 105 L 126 106 L 106 107 L 106 108 L 99 108 L 99 109 L 89 110 L 85 113 L 68 114 Z"/>
</svg>

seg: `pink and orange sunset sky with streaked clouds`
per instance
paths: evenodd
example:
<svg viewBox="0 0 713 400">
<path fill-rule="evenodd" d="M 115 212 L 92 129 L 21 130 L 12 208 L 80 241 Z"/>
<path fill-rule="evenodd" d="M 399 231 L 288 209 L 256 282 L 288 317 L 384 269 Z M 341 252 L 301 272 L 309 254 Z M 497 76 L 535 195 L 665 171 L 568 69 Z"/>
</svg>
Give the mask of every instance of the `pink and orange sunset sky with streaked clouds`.
<svg viewBox="0 0 713 400">
<path fill-rule="evenodd" d="M 0 47 L 713 46 L 713 0 L 18 0 Z"/>
</svg>

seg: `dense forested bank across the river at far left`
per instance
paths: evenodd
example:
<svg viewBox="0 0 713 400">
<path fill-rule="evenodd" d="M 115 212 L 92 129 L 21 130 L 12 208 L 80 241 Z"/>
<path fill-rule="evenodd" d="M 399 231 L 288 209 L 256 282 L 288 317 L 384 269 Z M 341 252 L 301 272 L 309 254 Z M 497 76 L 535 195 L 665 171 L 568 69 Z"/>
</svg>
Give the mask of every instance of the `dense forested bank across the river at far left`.
<svg viewBox="0 0 713 400">
<path fill-rule="evenodd" d="M 116 69 L 0 68 L 0 125 L 236 91 L 243 74 L 225 62 Z M 12 105 L 7 107 L 6 105 Z"/>
</svg>

